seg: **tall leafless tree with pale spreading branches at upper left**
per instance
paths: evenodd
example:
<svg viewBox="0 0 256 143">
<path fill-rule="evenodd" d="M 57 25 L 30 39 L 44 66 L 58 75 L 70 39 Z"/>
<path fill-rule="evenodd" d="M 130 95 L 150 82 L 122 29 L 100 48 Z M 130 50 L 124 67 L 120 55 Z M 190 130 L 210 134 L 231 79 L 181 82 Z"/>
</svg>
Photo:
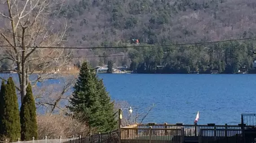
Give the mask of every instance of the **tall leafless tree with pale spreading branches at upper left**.
<svg viewBox="0 0 256 143">
<path fill-rule="evenodd" d="M 70 60 L 71 51 L 66 49 L 39 49 L 36 46 L 62 46 L 66 41 L 68 24 L 65 19 L 49 18 L 57 16 L 53 6 L 62 7 L 62 2 L 54 0 L 1 0 L 6 9 L 0 12 L 5 18 L 5 27 L 0 29 L 1 45 L 4 56 L 16 65 L 10 71 L 18 73 L 22 99 L 26 94 L 29 75 L 35 71 L 53 71 Z M 57 25 L 57 26 L 56 26 Z M 56 28 L 58 27 L 58 28 Z M 35 48 L 26 48 L 35 46 Z M 33 57 L 34 56 L 34 57 Z M 36 57 L 36 58 L 35 58 Z M 55 58 L 51 58 L 55 57 Z M 58 57 L 58 58 L 56 58 Z M 44 76 L 38 76 L 37 82 Z"/>
</svg>

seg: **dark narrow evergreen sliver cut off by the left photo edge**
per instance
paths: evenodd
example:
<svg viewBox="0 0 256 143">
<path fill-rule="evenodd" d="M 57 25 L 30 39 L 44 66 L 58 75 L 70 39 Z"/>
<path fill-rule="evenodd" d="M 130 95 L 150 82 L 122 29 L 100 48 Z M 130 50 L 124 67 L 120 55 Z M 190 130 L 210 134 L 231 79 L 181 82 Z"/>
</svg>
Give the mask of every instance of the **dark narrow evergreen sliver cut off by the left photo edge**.
<svg viewBox="0 0 256 143">
<path fill-rule="evenodd" d="M 1 90 L 0 90 L 0 141 L 3 140 L 4 135 L 4 124 L 3 124 L 3 118 L 4 118 L 4 92 L 5 92 L 5 84 L 4 80 L 2 80 L 1 84 Z"/>
</svg>

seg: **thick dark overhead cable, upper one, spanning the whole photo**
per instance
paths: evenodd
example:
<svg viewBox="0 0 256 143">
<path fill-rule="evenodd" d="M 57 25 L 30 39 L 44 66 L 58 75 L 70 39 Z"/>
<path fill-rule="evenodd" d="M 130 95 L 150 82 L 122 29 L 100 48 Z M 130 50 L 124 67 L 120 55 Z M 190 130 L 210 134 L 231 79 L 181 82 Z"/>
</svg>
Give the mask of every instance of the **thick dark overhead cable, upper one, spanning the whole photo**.
<svg viewBox="0 0 256 143">
<path fill-rule="evenodd" d="M 182 43 L 182 44 L 170 44 L 170 45 L 149 45 L 149 46 L 109 46 L 109 47 L 45 47 L 45 46 L 24 46 L 25 48 L 41 48 L 41 49 L 116 49 L 116 48 L 142 48 L 142 47 L 159 47 L 159 46 L 185 46 L 185 45 L 199 45 L 199 44 L 212 44 L 212 43 L 220 43 L 220 42 L 232 42 L 232 41 L 240 41 L 240 40 L 249 40 L 255 39 L 256 37 L 251 38 L 240 38 L 240 39 L 230 39 L 230 40 L 222 40 L 222 41 L 213 41 L 213 42 L 195 42 L 195 43 Z M 10 45 L 2 45 L 1 47 L 13 47 Z M 21 47 L 21 46 L 15 46 Z"/>
</svg>

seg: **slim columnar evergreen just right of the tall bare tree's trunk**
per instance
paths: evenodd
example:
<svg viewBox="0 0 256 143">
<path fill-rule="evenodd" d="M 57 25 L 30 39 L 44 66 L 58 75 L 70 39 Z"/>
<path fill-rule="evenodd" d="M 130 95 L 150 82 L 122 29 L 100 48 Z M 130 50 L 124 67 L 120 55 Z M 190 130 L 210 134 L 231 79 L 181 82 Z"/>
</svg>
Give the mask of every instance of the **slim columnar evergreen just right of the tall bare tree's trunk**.
<svg viewBox="0 0 256 143">
<path fill-rule="evenodd" d="M 31 140 L 33 137 L 37 139 L 36 107 L 31 84 L 26 88 L 26 96 L 20 111 L 20 122 L 21 139 Z"/>
</svg>

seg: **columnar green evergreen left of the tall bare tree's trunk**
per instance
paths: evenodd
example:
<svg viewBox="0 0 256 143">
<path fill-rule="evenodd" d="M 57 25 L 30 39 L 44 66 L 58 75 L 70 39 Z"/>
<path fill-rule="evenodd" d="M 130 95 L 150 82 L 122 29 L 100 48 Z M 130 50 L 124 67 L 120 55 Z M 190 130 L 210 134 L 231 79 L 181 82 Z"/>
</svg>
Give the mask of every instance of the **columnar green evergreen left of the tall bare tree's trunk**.
<svg viewBox="0 0 256 143">
<path fill-rule="evenodd" d="M 4 109 L 4 113 L 1 117 L 1 130 L 3 131 L 4 138 L 14 142 L 20 138 L 21 126 L 18 98 L 13 79 L 10 77 L 7 80 L 7 84 L 3 87 L 5 87 L 3 92 L 4 100 L 1 102 L 1 106 Z"/>
</svg>

